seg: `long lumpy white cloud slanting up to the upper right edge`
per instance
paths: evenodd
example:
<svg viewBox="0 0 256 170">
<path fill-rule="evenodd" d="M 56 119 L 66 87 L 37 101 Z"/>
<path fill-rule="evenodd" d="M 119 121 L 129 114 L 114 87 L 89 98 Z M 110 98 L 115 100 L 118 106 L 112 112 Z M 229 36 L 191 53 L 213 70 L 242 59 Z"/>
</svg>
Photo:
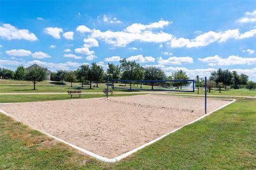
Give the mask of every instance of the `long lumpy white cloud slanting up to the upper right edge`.
<svg viewBox="0 0 256 170">
<path fill-rule="evenodd" d="M 197 36 L 194 39 L 186 39 L 186 38 L 173 38 L 168 44 L 172 47 L 202 47 L 207 46 L 214 42 L 225 42 L 228 39 L 243 39 L 243 38 L 250 38 L 253 37 L 256 34 L 256 29 L 239 33 L 239 29 L 234 30 L 227 30 L 224 32 L 214 32 L 209 31 L 206 33 L 203 33 L 202 35 Z"/>
</svg>

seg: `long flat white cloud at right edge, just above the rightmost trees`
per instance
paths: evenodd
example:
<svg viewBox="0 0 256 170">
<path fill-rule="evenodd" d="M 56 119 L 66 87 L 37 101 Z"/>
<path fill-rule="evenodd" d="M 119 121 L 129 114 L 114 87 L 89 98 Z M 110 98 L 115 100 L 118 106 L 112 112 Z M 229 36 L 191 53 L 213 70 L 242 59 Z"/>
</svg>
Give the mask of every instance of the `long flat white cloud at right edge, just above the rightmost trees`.
<svg viewBox="0 0 256 170">
<path fill-rule="evenodd" d="M 205 58 L 198 58 L 199 61 L 205 62 L 210 66 L 216 65 L 238 65 L 238 64 L 256 64 L 256 57 L 255 58 L 245 58 L 239 57 L 235 55 L 231 55 L 227 58 L 222 58 L 218 55 L 205 57 Z"/>
</svg>

